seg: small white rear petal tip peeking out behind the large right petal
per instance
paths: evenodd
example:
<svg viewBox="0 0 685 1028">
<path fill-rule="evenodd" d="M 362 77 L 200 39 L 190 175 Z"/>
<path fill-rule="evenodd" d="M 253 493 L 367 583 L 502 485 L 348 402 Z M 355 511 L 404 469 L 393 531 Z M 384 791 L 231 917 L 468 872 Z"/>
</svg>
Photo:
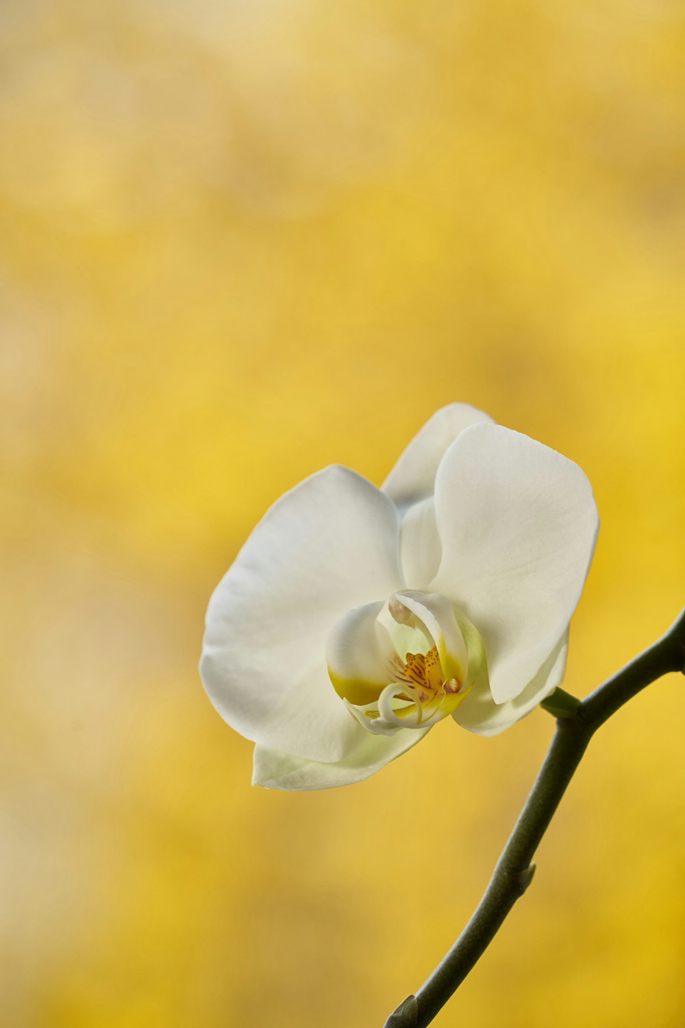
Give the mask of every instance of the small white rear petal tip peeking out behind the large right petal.
<svg viewBox="0 0 685 1028">
<path fill-rule="evenodd" d="M 466 403 L 451 403 L 436 410 L 402 453 L 383 483 L 383 491 L 392 497 L 397 506 L 429 497 L 437 466 L 448 446 L 469 425 L 480 421 L 492 421 L 492 418 Z"/>
</svg>

